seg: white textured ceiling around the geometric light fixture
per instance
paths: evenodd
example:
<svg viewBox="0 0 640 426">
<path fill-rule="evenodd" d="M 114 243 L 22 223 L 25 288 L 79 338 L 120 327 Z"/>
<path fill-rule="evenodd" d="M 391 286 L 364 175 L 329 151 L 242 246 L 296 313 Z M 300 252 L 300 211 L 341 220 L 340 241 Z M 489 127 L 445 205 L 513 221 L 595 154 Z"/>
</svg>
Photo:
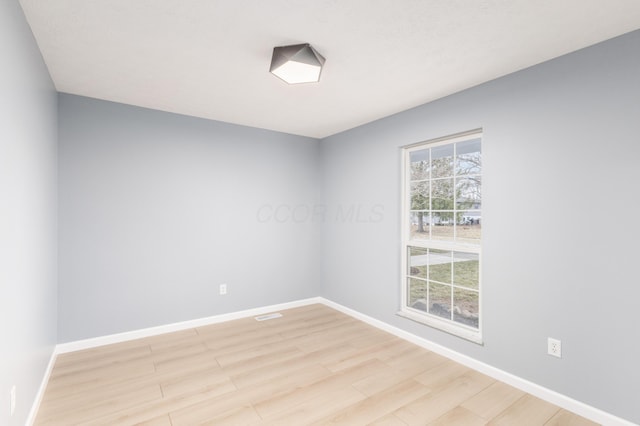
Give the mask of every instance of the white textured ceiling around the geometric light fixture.
<svg viewBox="0 0 640 426">
<path fill-rule="evenodd" d="M 60 92 L 322 138 L 640 28 L 639 0 L 21 0 Z M 271 75 L 311 43 L 319 84 Z"/>
</svg>

